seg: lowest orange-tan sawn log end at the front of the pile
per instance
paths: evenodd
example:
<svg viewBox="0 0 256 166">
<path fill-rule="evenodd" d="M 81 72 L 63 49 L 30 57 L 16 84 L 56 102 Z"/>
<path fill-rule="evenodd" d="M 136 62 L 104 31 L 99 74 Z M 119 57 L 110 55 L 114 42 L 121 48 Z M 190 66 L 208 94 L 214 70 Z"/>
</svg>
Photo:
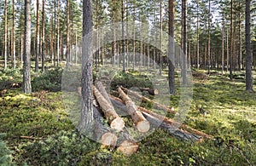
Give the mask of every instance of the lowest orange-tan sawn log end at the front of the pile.
<svg viewBox="0 0 256 166">
<path fill-rule="evenodd" d="M 138 145 L 130 140 L 123 141 L 117 148 L 118 152 L 123 152 L 125 155 L 129 156 L 138 150 Z"/>
</svg>

